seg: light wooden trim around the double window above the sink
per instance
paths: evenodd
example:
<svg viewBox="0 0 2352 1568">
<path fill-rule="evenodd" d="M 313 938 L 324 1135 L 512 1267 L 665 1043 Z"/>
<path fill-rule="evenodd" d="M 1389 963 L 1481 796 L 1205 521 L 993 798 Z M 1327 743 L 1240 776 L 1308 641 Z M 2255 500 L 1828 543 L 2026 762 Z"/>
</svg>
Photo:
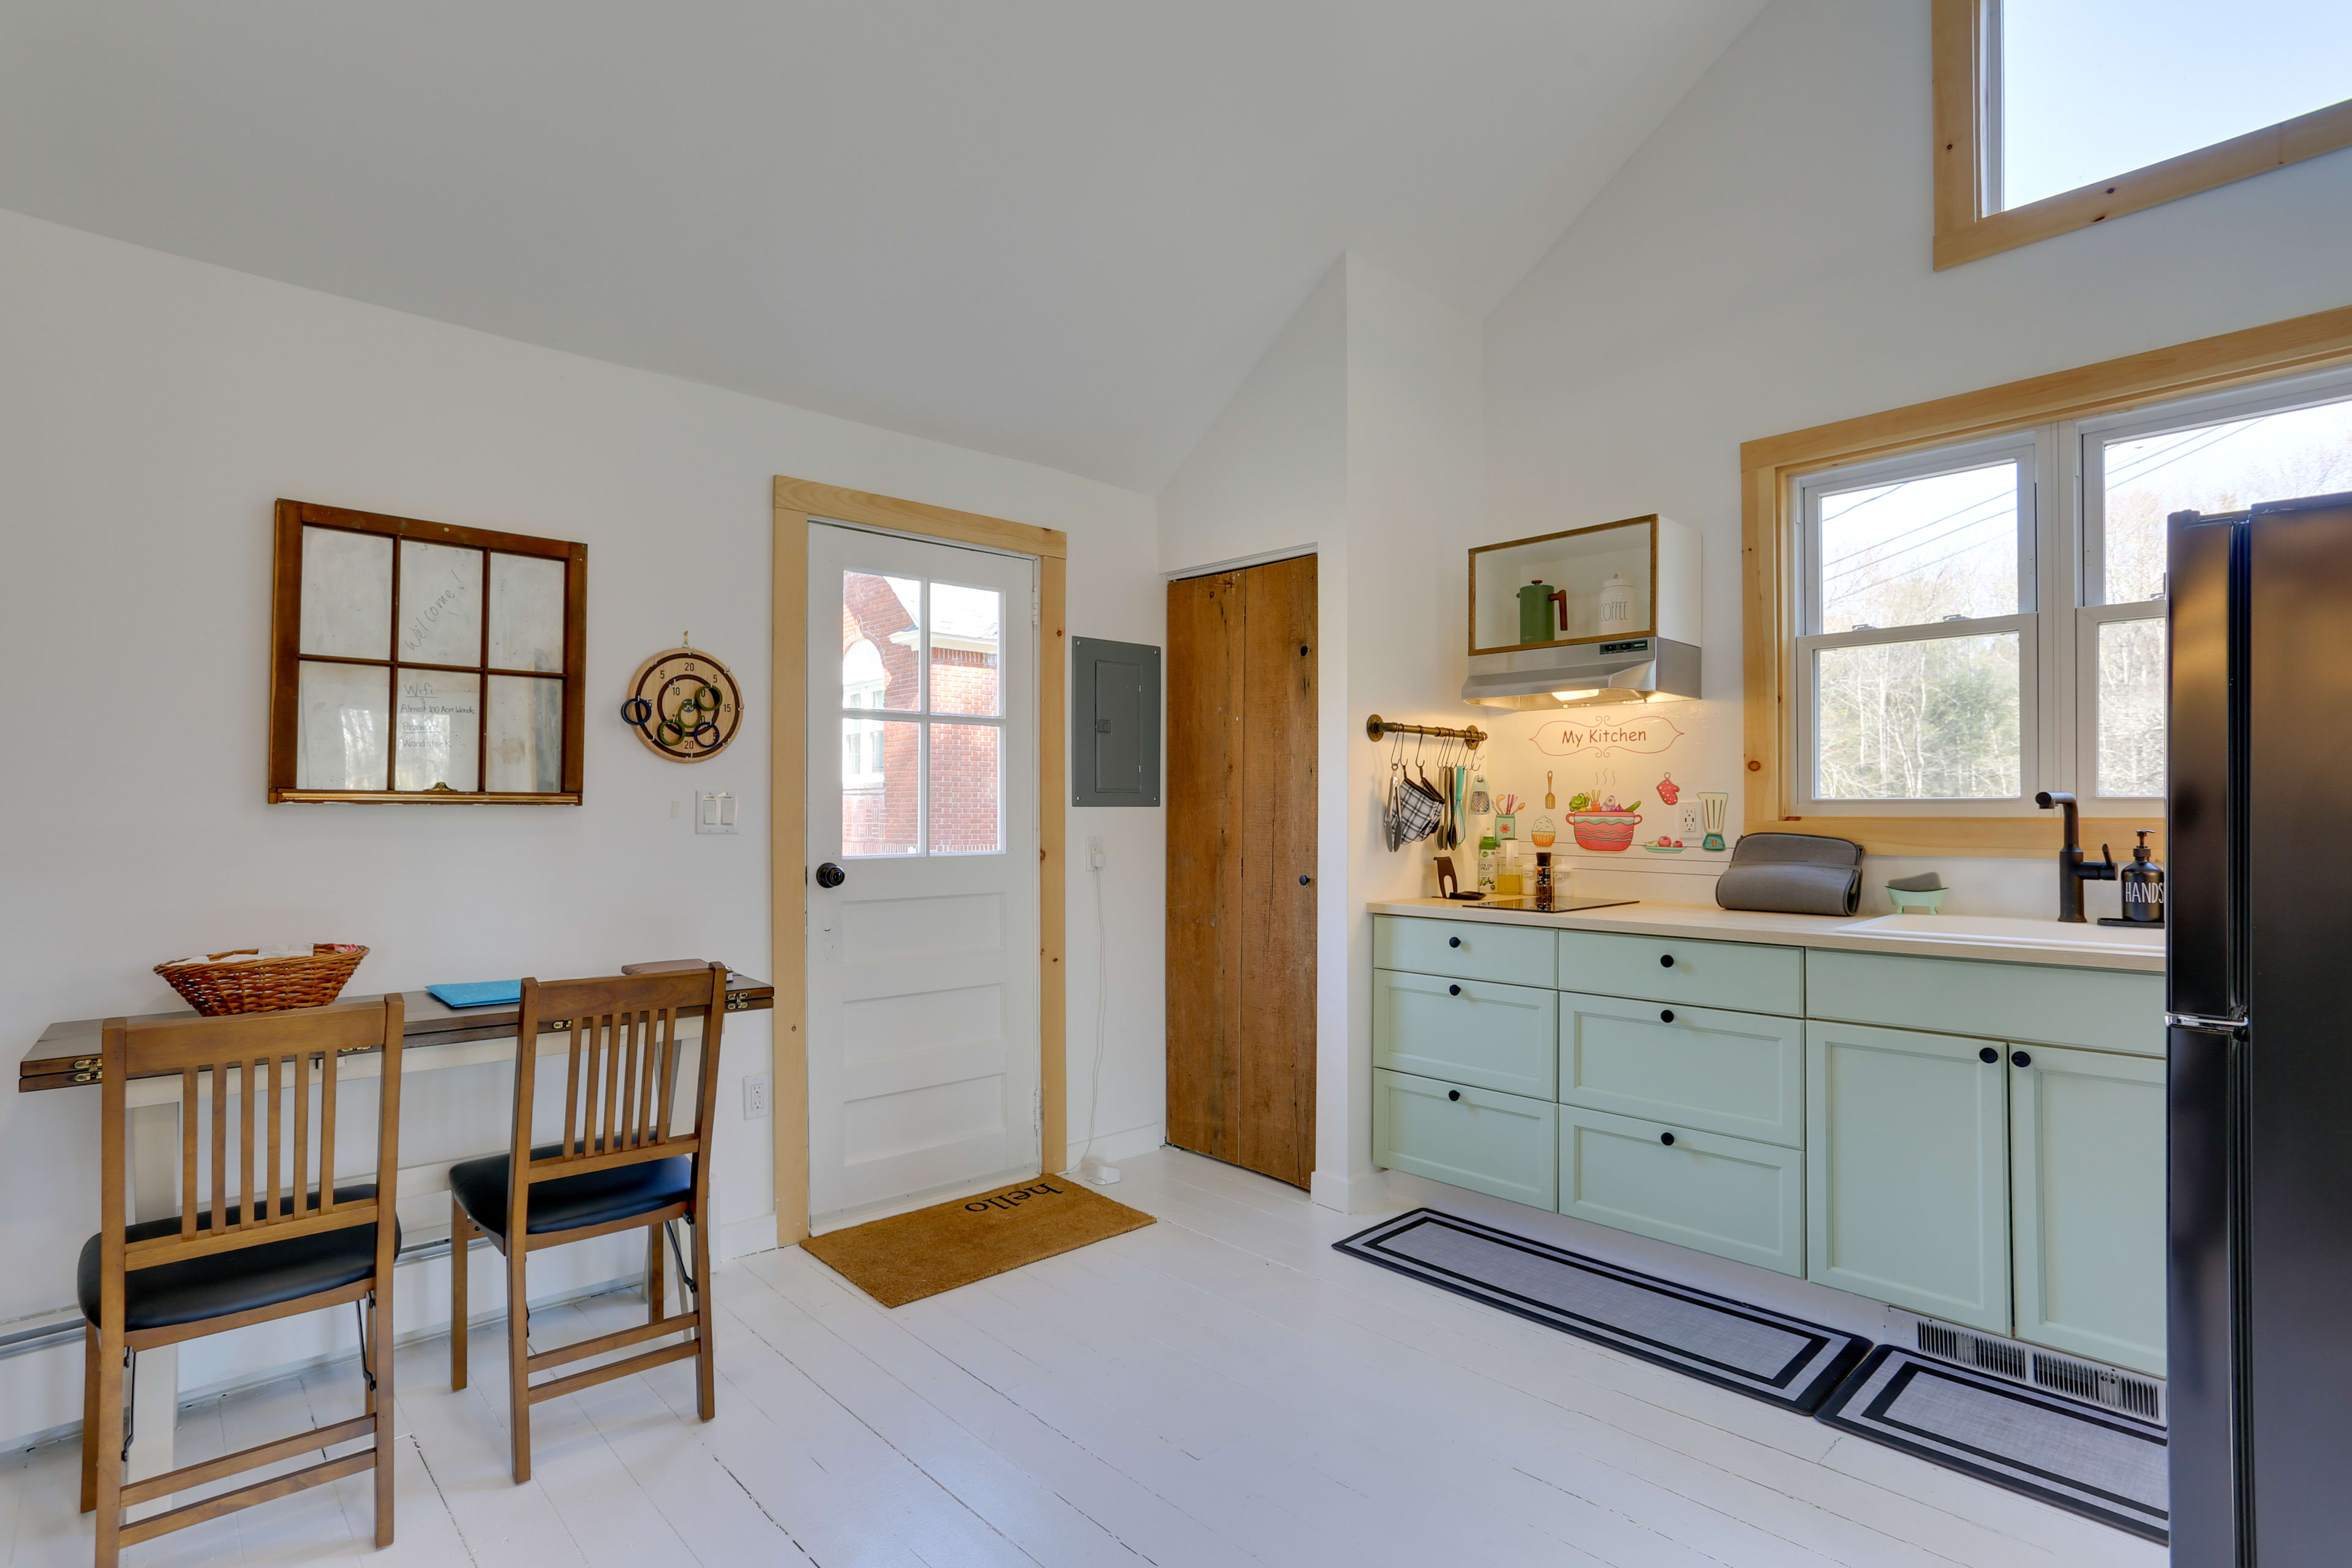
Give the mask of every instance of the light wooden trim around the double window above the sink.
<svg viewBox="0 0 2352 1568">
<path fill-rule="evenodd" d="M 2296 371 L 2352 364 L 2352 306 L 2227 331 L 2082 369 L 2032 376 L 1980 393 L 1938 397 L 1740 447 L 1745 827 L 1828 832 L 1877 856 L 2023 856 L 2058 849 L 2056 813 L 1997 816 L 1802 816 L 1790 813 L 1788 693 L 1795 689 L 1797 475 L 1844 468 L 1919 447 L 2025 430 L 2065 418 L 2218 393 Z M 2145 818 L 2131 818 L 2138 827 Z M 2084 818 L 2084 839 L 2131 842 L 2126 818 Z M 2161 835 L 2159 849 L 2161 856 Z"/>
</svg>

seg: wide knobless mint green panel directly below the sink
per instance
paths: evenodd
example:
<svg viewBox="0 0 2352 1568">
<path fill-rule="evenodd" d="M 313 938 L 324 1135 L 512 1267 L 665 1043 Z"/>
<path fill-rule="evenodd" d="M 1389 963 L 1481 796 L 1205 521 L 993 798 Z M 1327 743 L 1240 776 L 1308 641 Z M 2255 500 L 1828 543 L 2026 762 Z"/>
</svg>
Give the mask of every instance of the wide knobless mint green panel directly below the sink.
<svg viewBox="0 0 2352 1568">
<path fill-rule="evenodd" d="M 2164 976 L 1813 947 L 1804 994 L 1811 1018 L 2164 1056 Z"/>
</svg>

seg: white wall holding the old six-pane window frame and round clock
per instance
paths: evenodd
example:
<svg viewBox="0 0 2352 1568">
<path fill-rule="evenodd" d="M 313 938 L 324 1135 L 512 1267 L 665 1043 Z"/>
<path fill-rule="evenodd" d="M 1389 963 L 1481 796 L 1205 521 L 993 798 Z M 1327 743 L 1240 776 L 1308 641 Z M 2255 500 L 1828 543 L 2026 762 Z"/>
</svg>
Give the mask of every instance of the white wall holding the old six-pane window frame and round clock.
<svg viewBox="0 0 2352 1568">
<path fill-rule="evenodd" d="M 0 649 L 19 672 L 0 745 L 0 1023 L 14 1056 L 49 1020 L 172 1006 L 153 964 L 256 938 L 367 943 L 353 992 L 656 957 L 764 976 L 776 473 L 1065 529 L 1070 630 L 1160 642 L 1145 496 L 0 214 Z M 278 496 L 588 543 L 583 806 L 263 804 Z M 694 769 L 612 717 L 637 661 L 682 630 L 750 696 L 736 745 Z M 670 816 L 696 788 L 753 804 L 739 837 Z M 1101 832 L 1110 849 L 1103 1128 L 1160 1117 L 1160 823 L 1070 820 L 1075 844 Z M 1073 863 L 1073 1131 L 1094 1053 L 1091 910 Z M 767 1060 L 767 1016 L 731 1018 L 717 1218 L 739 1246 L 771 1237 L 769 1124 L 734 1114 L 739 1079 Z M 482 1079 L 477 1124 L 416 1117 L 412 1100 L 405 1154 L 499 1147 L 503 1105 L 503 1077 Z M 94 1093 L 0 1098 L 0 1251 L 16 1260 L 0 1324 L 73 1300 L 73 1255 L 96 1227 L 96 1114 Z M 405 1328 L 419 1321 L 407 1312 Z M 183 1387 L 205 1380 L 183 1373 Z M 73 1420 L 78 1387 L 71 1352 L 0 1363 L 0 1432 Z"/>
</svg>

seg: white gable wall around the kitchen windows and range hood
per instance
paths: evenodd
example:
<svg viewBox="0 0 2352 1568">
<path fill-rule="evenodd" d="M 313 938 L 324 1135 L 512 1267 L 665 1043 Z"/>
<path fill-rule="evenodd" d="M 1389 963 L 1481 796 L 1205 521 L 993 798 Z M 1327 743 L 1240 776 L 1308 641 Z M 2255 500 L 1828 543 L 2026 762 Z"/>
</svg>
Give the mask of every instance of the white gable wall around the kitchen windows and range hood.
<svg viewBox="0 0 2352 1568">
<path fill-rule="evenodd" d="M 1929 150 L 1926 5 L 1773 0 L 1486 320 L 1491 503 L 1463 545 L 1639 512 L 1705 534 L 1708 701 L 1665 710 L 1693 736 L 1578 757 L 1562 790 L 1613 766 L 1621 797 L 1656 802 L 1670 766 L 1729 790 L 1736 825 L 1740 442 L 2352 301 L 2352 153 L 1936 273 Z M 1531 724 L 1496 729 L 1498 771 L 1541 788 Z M 1708 896 L 1609 860 L 1578 860 L 1588 889 Z M 1926 865 L 1872 860 L 1877 907 Z M 1950 907 L 2056 896 L 2046 860 L 1940 870 Z"/>
</svg>

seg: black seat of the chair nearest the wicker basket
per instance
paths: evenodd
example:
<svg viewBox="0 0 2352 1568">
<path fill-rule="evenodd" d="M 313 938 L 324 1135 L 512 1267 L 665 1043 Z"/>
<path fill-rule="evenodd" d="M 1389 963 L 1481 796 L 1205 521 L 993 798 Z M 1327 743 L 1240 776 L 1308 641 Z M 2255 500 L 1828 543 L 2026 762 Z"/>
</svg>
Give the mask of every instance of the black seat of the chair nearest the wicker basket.
<svg viewBox="0 0 2352 1568">
<path fill-rule="evenodd" d="M 336 1187 L 336 1204 L 355 1204 L 376 1197 L 374 1185 Z M 228 1213 L 238 1213 L 235 1206 Z M 278 1199 L 278 1213 L 294 1213 L 294 1199 Z M 212 1229 L 212 1211 L 195 1218 L 198 1234 Z M 179 1215 L 148 1220 L 122 1232 L 127 1241 L 151 1237 L 176 1237 Z M 82 1300 L 82 1316 L 99 1321 L 99 1239 L 82 1244 L 82 1258 L 73 1269 L 73 1291 Z M 400 1220 L 393 1220 L 393 1248 L 400 1248 Z M 202 1324 L 205 1319 L 275 1307 L 301 1295 L 348 1286 L 367 1279 L 376 1267 L 376 1227 L 343 1225 L 308 1237 L 285 1241 L 261 1241 L 233 1253 L 207 1258 L 183 1258 L 181 1262 L 158 1262 L 151 1269 L 132 1269 L 122 1279 L 122 1326 L 132 1333 L 141 1328 L 174 1328 L 179 1324 Z"/>
</svg>

